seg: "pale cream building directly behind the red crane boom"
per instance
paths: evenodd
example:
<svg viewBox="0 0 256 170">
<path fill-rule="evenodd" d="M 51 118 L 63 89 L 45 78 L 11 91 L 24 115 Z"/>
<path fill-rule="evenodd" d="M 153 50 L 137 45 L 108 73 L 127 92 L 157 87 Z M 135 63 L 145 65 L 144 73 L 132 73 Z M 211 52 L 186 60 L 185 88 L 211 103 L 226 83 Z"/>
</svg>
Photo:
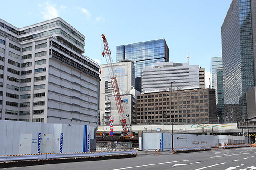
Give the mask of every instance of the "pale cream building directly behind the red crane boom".
<svg viewBox="0 0 256 170">
<path fill-rule="evenodd" d="M 114 63 L 116 78 L 119 85 L 119 90 L 122 91 L 121 99 L 125 113 L 129 114 L 129 122 L 132 122 L 132 115 L 136 114 L 136 97 L 135 92 L 132 93 L 131 89 L 135 86 L 135 66 L 133 61 L 123 60 Z M 108 65 L 101 65 L 100 74 L 100 97 L 99 97 L 99 121 L 100 125 L 108 125 L 109 116 L 113 115 L 115 124 L 119 123 L 119 115 L 116 108 L 116 101 L 113 96 L 111 81 L 109 79 Z M 125 99 L 126 102 L 125 102 Z"/>
</svg>

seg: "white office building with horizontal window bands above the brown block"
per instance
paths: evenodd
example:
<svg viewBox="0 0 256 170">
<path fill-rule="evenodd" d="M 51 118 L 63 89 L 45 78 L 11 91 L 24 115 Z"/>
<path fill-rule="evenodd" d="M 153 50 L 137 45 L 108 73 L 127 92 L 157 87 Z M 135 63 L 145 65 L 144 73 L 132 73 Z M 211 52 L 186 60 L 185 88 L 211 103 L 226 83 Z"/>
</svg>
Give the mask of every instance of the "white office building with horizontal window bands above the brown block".
<svg viewBox="0 0 256 170">
<path fill-rule="evenodd" d="M 142 93 L 146 91 L 181 89 L 193 86 L 199 88 L 199 66 L 189 63 L 157 62 L 142 70 Z"/>
</svg>

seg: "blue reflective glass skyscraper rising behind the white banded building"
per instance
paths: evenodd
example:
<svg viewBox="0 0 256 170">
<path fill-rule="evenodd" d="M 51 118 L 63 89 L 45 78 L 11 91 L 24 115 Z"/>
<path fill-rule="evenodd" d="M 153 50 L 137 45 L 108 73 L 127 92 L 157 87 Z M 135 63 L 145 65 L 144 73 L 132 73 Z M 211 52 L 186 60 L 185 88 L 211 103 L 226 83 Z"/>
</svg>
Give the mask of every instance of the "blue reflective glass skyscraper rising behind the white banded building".
<svg viewBox="0 0 256 170">
<path fill-rule="evenodd" d="M 169 48 L 165 39 L 138 42 L 116 47 L 116 62 L 128 59 L 135 65 L 135 88 L 141 91 L 141 71 L 155 62 L 169 61 Z"/>
</svg>

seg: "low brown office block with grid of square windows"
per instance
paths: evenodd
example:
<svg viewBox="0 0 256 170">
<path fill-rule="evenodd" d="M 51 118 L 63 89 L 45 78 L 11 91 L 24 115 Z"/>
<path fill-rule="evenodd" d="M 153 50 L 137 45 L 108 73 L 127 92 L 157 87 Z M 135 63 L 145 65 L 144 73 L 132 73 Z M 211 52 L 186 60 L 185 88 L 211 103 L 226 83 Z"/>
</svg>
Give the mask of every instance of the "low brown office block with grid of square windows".
<svg viewBox="0 0 256 170">
<path fill-rule="evenodd" d="M 137 95 L 137 124 L 169 124 L 171 94 L 174 124 L 216 122 L 215 90 L 192 89 Z"/>
</svg>

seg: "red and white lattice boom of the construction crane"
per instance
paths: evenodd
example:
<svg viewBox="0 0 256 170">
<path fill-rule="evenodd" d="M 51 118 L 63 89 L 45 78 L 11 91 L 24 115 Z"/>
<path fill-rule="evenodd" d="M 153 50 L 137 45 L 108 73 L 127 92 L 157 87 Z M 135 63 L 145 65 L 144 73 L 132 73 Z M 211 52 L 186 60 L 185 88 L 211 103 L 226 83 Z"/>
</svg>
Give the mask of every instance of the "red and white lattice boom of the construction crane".
<svg viewBox="0 0 256 170">
<path fill-rule="evenodd" d="M 108 42 L 107 42 L 107 39 L 104 34 L 102 34 L 102 40 L 103 40 L 103 45 L 104 45 L 104 51 L 102 52 L 102 55 L 103 55 L 103 57 L 105 56 L 105 58 L 106 58 L 106 62 L 108 65 L 109 77 L 111 80 L 111 85 L 112 85 L 113 93 L 114 93 L 115 100 L 116 100 L 117 111 L 119 114 L 122 129 L 124 131 L 124 134 L 126 135 L 126 134 L 128 134 L 128 127 L 126 124 L 124 108 L 122 105 L 120 91 L 119 91 L 119 87 L 118 87 L 118 83 L 117 83 L 117 79 L 116 79 L 116 73 L 114 71 L 114 65 L 113 65 L 113 60 L 111 57 L 111 52 L 108 47 Z"/>
</svg>

